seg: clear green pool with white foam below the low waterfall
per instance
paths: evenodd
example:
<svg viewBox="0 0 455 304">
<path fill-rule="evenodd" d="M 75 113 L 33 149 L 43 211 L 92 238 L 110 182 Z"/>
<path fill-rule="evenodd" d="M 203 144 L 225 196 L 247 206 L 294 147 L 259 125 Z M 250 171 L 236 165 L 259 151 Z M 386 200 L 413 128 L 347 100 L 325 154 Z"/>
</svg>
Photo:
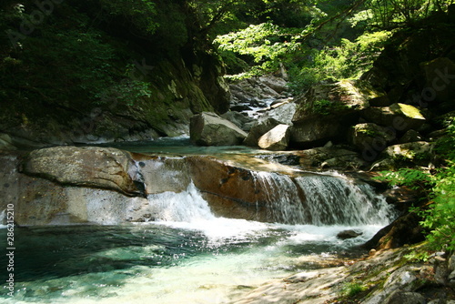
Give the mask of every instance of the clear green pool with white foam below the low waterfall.
<svg viewBox="0 0 455 304">
<path fill-rule="evenodd" d="M 268 279 L 309 269 L 314 258 L 352 254 L 379 229 L 357 227 L 362 237 L 337 239 L 346 228 L 228 218 L 18 228 L 15 303 L 224 303 Z M 0 303 L 9 303 L 0 292 Z"/>
</svg>

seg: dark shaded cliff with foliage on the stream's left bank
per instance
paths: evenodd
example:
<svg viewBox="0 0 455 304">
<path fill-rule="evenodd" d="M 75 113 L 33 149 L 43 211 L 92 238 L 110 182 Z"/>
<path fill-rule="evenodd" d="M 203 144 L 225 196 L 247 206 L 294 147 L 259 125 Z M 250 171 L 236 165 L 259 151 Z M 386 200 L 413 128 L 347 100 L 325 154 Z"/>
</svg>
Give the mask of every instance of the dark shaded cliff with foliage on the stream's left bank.
<svg viewBox="0 0 455 304">
<path fill-rule="evenodd" d="M 102 0 L 0 8 L 0 134 L 15 147 L 174 137 L 227 111 L 224 67 L 185 2 L 154 1 L 148 31 Z"/>
</svg>

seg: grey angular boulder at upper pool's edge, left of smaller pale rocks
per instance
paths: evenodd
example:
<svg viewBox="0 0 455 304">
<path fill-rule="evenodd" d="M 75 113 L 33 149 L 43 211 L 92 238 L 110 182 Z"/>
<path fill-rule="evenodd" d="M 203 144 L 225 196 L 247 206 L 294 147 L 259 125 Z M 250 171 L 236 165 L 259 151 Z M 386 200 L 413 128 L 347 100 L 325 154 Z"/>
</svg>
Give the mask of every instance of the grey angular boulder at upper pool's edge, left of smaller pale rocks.
<svg viewBox="0 0 455 304">
<path fill-rule="evenodd" d="M 190 138 L 199 146 L 236 146 L 247 133 L 215 113 L 203 112 L 191 117 Z"/>
</svg>

